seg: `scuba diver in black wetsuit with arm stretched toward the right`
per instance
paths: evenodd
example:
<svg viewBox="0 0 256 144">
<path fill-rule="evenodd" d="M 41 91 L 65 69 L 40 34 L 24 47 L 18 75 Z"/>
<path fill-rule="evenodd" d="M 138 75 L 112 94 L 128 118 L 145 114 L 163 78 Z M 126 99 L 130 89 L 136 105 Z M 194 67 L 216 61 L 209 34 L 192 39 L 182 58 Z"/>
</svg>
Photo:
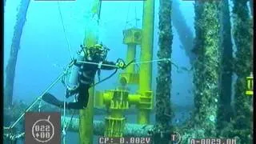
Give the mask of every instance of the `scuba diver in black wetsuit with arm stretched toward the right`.
<svg viewBox="0 0 256 144">
<path fill-rule="evenodd" d="M 77 102 L 66 102 L 66 109 L 80 110 L 87 106 L 89 100 L 89 89 L 94 86 L 94 77 L 99 70 L 117 70 L 125 69 L 125 62 L 118 58 L 117 62 L 106 61 L 107 52 L 110 50 L 102 44 L 96 44 L 91 47 L 81 46 L 78 51 L 82 55 L 83 63 L 79 62 L 79 57 L 74 60 L 74 66 L 78 67 L 75 73 L 78 73 L 78 85 L 75 88 L 66 88 L 66 98 L 77 95 Z M 95 64 L 96 63 L 96 64 Z M 60 108 L 64 107 L 64 102 L 58 100 L 53 94 L 46 93 L 42 100 Z"/>
</svg>

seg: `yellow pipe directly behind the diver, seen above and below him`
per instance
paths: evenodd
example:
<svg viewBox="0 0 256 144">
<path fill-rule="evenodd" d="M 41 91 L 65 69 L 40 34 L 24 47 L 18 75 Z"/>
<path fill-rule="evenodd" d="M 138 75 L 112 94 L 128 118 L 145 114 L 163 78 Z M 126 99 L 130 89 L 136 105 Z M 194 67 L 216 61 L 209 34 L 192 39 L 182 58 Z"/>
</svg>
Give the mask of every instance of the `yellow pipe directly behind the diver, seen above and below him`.
<svg viewBox="0 0 256 144">
<path fill-rule="evenodd" d="M 86 34 L 83 44 L 94 46 L 98 42 L 98 17 L 100 12 L 100 0 L 93 0 L 91 17 L 87 19 Z M 96 18 L 95 18 L 96 17 Z M 80 144 L 93 144 L 94 138 L 94 88 L 90 88 L 89 102 L 84 110 L 79 110 L 79 140 Z"/>
</svg>

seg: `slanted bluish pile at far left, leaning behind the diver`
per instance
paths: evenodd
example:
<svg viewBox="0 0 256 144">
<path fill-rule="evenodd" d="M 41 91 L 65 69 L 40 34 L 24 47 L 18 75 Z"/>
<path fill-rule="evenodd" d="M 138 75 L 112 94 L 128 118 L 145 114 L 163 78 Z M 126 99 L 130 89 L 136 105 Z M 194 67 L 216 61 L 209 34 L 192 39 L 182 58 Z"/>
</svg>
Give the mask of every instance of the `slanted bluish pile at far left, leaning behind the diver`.
<svg viewBox="0 0 256 144">
<path fill-rule="evenodd" d="M 12 38 L 12 43 L 10 47 L 10 58 L 6 66 L 6 86 L 4 90 L 5 104 L 6 106 L 11 106 L 13 101 L 14 92 L 14 78 L 15 78 L 15 68 L 18 57 L 18 50 L 20 49 L 20 41 L 22 38 L 23 26 L 26 22 L 26 12 L 30 5 L 30 0 L 22 0 L 20 3 L 20 8 L 18 10 L 16 24 L 14 26 L 14 36 Z"/>
</svg>

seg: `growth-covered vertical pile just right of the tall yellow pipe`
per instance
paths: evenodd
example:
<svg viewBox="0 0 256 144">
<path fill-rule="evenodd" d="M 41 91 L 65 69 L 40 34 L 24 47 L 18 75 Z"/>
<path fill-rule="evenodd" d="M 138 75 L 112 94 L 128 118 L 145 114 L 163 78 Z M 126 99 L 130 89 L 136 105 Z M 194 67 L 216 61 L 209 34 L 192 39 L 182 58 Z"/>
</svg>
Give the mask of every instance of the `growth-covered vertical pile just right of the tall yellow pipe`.
<svg viewBox="0 0 256 144">
<path fill-rule="evenodd" d="M 171 29 L 171 3 L 172 1 L 160 0 L 159 5 L 159 50 L 158 58 L 170 58 L 172 52 L 173 34 Z M 173 113 L 170 104 L 171 86 L 170 61 L 158 62 L 158 77 L 156 88 L 156 130 L 169 131 Z M 154 143 L 169 143 L 170 137 L 154 138 Z"/>
</svg>

